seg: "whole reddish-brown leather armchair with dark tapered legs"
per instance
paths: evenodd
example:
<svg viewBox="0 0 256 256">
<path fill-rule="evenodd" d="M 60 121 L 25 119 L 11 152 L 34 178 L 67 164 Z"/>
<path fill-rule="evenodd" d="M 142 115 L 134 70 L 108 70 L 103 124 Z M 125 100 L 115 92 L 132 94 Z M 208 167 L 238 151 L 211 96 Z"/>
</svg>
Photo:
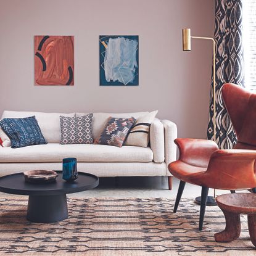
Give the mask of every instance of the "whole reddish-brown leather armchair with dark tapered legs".
<svg viewBox="0 0 256 256">
<path fill-rule="evenodd" d="M 178 209 L 187 182 L 202 187 L 199 230 L 209 188 L 256 192 L 256 94 L 227 83 L 223 85 L 222 97 L 236 131 L 236 146 L 221 150 L 210 140 L 175 139 L 180 158 L 168 165 L 170 173 L 180 179 L 173 212 Z"/>
</svg>

